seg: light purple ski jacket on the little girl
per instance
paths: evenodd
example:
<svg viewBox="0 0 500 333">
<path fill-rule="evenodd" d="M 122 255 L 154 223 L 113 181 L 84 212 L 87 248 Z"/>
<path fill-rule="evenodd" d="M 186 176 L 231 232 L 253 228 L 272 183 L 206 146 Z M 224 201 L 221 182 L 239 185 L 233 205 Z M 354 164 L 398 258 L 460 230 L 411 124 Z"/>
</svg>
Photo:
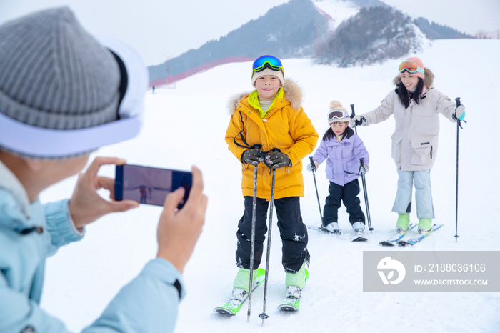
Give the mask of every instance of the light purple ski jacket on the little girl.
<svg viewBox="0 0 500 333">
<path fill-rule="evenodd" d="M 326 178 L 340 186 L 359 178 L 356 173 L 359 172 L 361 158 L 364 158 L 365 164 L 370 163 L 368 151 L 357 134 L 353 134 L 349 139 L 344 137 L 340 142 L 336 137 L 328 141 L 321 140 L 313 156 L 313 160 L 318 164 L 326 159 Z"/>
</svg>

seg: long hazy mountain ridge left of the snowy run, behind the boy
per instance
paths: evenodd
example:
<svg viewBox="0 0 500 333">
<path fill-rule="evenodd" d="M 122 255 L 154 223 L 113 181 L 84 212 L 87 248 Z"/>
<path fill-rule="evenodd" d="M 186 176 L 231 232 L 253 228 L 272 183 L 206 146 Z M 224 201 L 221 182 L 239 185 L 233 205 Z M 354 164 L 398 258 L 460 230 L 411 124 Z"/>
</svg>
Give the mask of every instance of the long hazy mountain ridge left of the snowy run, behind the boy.
<svg viewBox="0 0 500 333">
<path fill-rule="evenodd" d="M 228 57 L 256 58 L 274 54 L 279 58 L 311 56 L 318 34 L 326 34 L 328 19 L 310 0 L 291 0 L 276 6 L 258 19 L 243 24 L 218 40 L 208 41 L 199 49 L 189 50 L 168 64 L 149 66 L 151 81 L 184 73 L 209 61 Z"/>
</svg>

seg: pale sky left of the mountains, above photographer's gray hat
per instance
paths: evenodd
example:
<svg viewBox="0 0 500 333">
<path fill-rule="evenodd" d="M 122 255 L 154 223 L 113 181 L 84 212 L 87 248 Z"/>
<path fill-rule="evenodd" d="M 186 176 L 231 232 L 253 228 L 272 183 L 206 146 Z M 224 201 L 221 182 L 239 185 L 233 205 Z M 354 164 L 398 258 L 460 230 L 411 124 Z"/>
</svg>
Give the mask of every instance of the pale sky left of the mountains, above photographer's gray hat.
<svg viewBox="0 0 500 333">
<path fill-rule="evenodd" d="M 68 5 L 92 34 L 126 41 L 146 65 L 219 39 L 288 0 L 0 0 L 0 24 Z"/>
</svg>

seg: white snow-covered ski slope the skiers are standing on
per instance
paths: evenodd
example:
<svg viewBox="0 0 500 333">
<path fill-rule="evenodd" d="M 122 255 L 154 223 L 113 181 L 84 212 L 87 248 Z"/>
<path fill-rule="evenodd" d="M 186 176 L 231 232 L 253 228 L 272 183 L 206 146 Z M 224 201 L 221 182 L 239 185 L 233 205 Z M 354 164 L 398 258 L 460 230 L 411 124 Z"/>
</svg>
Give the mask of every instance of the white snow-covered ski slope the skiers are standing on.
<svg viewBox="0 0 500 333">
<path fill-rule="evenodd" d="M 454 39 L 434 41 L 416 54 L 436 76 L 436 89 L 466 106 L 460 131 L 459 235 L 455 242 L 456 125 L 441 117 L 439 156 L 432 169 L 436 222 L 445 227 L 413 248 L 394 251 L 499 250 L 497 226 L 500 199 L 498 169 L 500 41 Z M 304 109 L 319 134 L 327 129 L 331 100 L 356 113 L 379 105 L 393 89 L 401 59 L 363 68 L 311 64 L 307 59 L 284 60 L 286 76 L 304 91 Z M 281 267 L 281 239 L 274 221 L 267 311 L 261 328 L 264 288 L 254 292 L 251 322 L 246 303 L 232 318 L 212 312 L 226 302 L 236 274 L 236 224 L 243 213 L 241 168 L 227 150 L 224 134 L 229 122 L 226 102 L 232 94 L 250 91 L 250 63 L 227 64 L 146 96 L 144 127 L 138 138 L 100 149 L 95 155 L 120 156 L 131 164 L 204 172 L 209 197 L 206 224 L 193 257 L 184 271 L 187 295 L 180 306 L 176 332 L 499 332 L 498 292 L 363 292 L 363 251 L 381 250 L 379 241 L 394 232 L 391 207 L 396 193 L 396 168 L 390 136 L 394 119 L 361 127 L 358 134 L 371 155 L 366 174 L 374 233 L 366 244 L 351 243 L 309 232 L 311 267 L 301 309 L 280 313 L 285 274 Z M 319 143 L 318 143 L 319 144 Z M 101 174 L 114 177 L 114 169 Z M 317 172 L 321 206 L 328 182 L 324 165 Z M 43 202 L 71 195 L 76 177 L 48 189 Z M 312 174 L 304 168 L 306 195 L 301 209 L 306 224 L 319 224 Z M 362 196 L 362 194 L 361 194 Z M 361 199 L 362 200 L 362 199 Z M 364 209 L 364 204 L 362 204 Z M 112 214 L 91 224 L 81 242 L 62 248 L 48 260 L 42 307 L 79 331 L 101 314 L 119 289 L 133 279 L 156 254 L 156 223 L 161 209 L 142 205 L 132 212 Z M 416 221 L 412 212 L 411 220 Z M 351 233 L 345 209 L 339 224 Z M 385 248 L 384 248 L 385 250 Z M 261 264 L 261 267 L 264 266 Z"/>
</svg>

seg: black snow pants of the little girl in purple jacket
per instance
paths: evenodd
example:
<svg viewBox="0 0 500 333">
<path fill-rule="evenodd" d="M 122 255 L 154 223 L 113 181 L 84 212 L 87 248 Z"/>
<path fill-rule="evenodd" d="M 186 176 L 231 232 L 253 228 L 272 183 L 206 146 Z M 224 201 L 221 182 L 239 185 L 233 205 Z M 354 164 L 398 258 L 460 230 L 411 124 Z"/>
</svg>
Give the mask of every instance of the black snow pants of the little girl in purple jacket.
<svg viewBox="0 0 500 333">
<path fill-rule="evenodd" d="M 323 218 L 325 226 L 332 222 L 338 222 L 337 219 L 339 219 L 339 215 L 337 212 L 340 208 L 341 202 L 344 202 L 344 206 L 349 213 L 349 222 L 351 222 L 351 225 L 355 222 L 364 223 L 364 214 L 361 210 L 361 206 L 359 205 L 360 200 L 358 198 L 358 179 L 354 179 L 353 181 L 344 184 L 343 187 L 330 182 L 328 192 L 330 192 L 330 195 L 326 197 Z"/>
</svg>

